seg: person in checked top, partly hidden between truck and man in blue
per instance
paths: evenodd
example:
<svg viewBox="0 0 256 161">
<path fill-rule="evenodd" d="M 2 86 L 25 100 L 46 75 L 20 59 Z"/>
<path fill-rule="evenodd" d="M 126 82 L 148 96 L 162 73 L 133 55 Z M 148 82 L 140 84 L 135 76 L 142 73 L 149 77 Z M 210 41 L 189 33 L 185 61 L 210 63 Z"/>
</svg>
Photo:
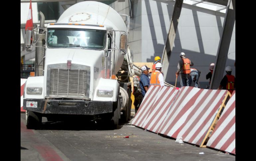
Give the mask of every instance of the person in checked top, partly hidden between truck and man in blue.
<svg viewBox="0 0 256 161">
<path fill-rule="evenodd" d="M 140 104 L 143 100 L 143 96 L 140 89 L 140 77 L 136 76 L 133 78 L 133 95 L 134 95 L 134 107 L 135 107 L 135 114 L 137 113 Z"/>
</svg>

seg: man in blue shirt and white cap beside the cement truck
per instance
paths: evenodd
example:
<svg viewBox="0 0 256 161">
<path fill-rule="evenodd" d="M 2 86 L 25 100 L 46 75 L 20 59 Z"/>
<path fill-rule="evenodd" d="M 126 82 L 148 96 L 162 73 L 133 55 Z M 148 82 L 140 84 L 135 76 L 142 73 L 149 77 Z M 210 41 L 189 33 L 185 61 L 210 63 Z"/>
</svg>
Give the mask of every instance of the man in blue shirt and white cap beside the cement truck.
<svg viewBox="0 0 256 161">
<path fill-rule="evenodd" d="M 148 91 L 149 85 L 150 85 L 150 80 L 148 77 L 149 74 L 149 69 L 146 65 L 142 66 L 140 68 L 142 70 L 142 74 L 140 76 L 140 89 L 141 89 L 141 94 L 143 98 L 146 95 L 146 92 Z"/>
</svg>

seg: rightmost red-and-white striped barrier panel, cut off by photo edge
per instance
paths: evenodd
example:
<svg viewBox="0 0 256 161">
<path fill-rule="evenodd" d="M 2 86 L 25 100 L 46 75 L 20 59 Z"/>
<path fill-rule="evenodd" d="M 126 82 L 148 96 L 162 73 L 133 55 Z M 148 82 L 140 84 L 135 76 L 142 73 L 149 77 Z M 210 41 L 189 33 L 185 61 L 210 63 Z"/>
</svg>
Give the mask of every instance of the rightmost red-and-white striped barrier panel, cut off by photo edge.
<svg viewBox="0 0 256 161">
<path fill-rule="evenodd" d="M 235 154 L 235 91 L 228 100 L 206 146 Z"/>
</svg>

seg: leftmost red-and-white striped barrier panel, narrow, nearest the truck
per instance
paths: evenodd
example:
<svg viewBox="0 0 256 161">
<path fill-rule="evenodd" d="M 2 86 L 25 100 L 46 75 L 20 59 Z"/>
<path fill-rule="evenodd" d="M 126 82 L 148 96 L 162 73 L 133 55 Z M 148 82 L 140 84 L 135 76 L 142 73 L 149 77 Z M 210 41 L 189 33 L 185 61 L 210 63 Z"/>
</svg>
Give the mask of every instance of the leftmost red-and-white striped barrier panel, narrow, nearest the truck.
<svg viewBox="0 0 256 161">
<path fill-rule="evenodd" d="M 160 86 L 149 86 L 149 89 L 141 102 L 139 110 L 137 111 L 132 124 L 135 126 L 142 127 L 143 123 L 146 121 L 149 111 L 154 105 L 156 98 L 161 90 Z"/>
</svg>

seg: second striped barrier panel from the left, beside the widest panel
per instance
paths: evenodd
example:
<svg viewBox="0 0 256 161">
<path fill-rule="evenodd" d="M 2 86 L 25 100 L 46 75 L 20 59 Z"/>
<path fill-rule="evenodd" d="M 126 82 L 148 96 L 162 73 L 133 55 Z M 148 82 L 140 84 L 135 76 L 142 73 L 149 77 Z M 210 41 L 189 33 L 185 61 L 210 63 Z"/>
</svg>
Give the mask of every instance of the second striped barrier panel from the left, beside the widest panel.
<svg viewBox="0 0 256 161">
<path fill-rule="evenodd" d="M 142 128 L 152 132 L 158 132 L 179 91 L 173 87 L 165 86 L 161 88 Z"/>
</svg>

